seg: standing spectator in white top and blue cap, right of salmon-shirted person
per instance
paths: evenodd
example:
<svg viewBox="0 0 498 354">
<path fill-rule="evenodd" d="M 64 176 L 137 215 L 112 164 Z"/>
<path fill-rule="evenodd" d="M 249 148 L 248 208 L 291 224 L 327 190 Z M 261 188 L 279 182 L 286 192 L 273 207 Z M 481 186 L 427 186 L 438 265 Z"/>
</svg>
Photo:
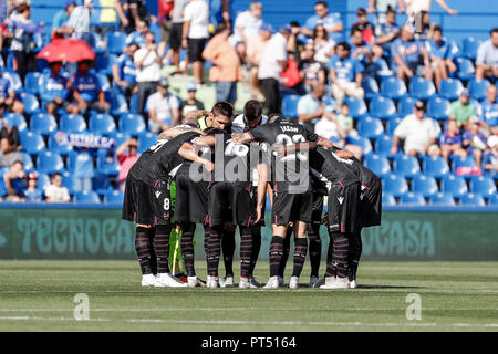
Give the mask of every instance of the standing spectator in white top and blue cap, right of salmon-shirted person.
<svg viewBox="0 0 498 354">
<path fill-rule="evenodd" d="M 255 35 L 247 45 L 247 61 L 249 64 L 249 75 L 251 85 L 251 100 L 256 100 L 259 94 L 258 67 L 264 53 L 264 48 L 273 34 L 271 24 L 263 23 L 259 29 L 258 35 Z"/>
</svg>

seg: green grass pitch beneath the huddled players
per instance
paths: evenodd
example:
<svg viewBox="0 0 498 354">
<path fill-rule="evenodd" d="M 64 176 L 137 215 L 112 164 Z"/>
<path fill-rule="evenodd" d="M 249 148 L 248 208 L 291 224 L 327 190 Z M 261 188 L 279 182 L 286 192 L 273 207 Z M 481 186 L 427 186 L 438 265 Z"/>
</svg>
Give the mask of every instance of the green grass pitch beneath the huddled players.
<svg viewBox="0 0 498 354">
<path fill-rule="evenodd" d="M 498 330 L 497 262 L 363 262 L 354 290 L 142 288 L 136 261 L 0 261 L 0 331 Z M 73 316 L 79 293 L 87 321 Z M 411 293 L 421 320 L 407 320 Z"/>
</svg>

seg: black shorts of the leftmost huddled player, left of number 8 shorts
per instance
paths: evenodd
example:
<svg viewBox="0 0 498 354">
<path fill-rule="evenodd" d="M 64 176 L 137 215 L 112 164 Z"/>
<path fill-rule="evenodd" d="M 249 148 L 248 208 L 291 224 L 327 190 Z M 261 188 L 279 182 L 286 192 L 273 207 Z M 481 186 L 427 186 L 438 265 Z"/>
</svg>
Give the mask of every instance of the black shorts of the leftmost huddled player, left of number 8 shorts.
<svg viewBox="0 0 498 354">
<path fill-rule="evenodd" d="M 142 225 L 154 223 L 154 188 L 128 174 L 122 208 L 122 219 Z"/>
</svg>

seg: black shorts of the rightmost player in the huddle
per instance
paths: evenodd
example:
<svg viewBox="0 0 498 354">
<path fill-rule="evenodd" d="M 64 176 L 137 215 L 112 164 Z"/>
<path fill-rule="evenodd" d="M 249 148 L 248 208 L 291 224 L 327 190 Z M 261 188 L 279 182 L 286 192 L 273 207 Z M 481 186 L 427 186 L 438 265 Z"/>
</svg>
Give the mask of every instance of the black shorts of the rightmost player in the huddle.
<svg viewBox="0 0 498 354">
<path fill-rule="evenodd" d="M 382 183 L 375 180 L 371 186 L 362 185 L 360 194 L 360 226 L 371 227 L 381 225 L 382 220 Z"/>
</svg>

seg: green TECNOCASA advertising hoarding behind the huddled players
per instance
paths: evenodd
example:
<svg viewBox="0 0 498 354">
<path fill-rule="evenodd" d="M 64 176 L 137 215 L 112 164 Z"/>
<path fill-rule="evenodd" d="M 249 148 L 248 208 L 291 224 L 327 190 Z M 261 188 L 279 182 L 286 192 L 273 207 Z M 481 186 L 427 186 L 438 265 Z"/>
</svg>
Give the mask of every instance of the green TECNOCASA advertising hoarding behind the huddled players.
<svg viewBox="0 0 498 354">
<path fill-rule="evenodd" d="M 363 259 L 496 261 L 497 216 L 384 211 L 382 226 L 363 230 Z M 118 209 L 2 208 L 0 222 L 0 259 L 135 258 L 134 226 L 121 220 Z M 321 237 L 325 250 L 329 237 L 324 227 Z M 271 229 L 267 227 L 261 259 L 268 259 L 270 238 Z M 196 257 L 204 258 L 200 226 L 196 230 Z"/>
</svg>

